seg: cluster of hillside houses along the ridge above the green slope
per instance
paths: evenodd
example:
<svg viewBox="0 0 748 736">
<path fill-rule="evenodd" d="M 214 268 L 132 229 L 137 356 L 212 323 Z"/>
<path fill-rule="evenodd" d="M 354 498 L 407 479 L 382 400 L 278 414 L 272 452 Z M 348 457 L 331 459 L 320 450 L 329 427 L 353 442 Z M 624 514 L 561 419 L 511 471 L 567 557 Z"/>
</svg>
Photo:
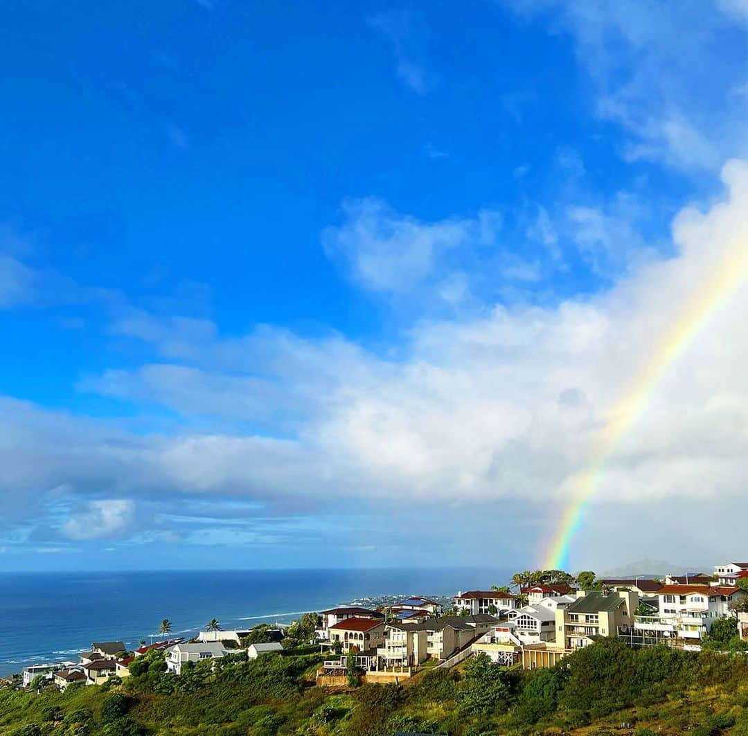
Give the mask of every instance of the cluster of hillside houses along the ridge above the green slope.
<svg viewBox="0 0 748 736">
<path fill-rule="evenodd" d="M 526 586 L 518 594 L 497 590 L 459 591 L 453 615 L 442 606 L 414 596 L 388 607 L 343 606 L 322 611 L 316 643 L 332 654 L 319 670 L 319 684 L 342 684 L 351 666 L 368 681 L 399 681 L 426 663 L 453 666 L 485 653 L 505 666 L 525 669 L 553 666 L 575 649 L 600 637 L 617 637 L 631 646 L 667 644 L 698 650 L 717 619 L 735 616 L 741 639 L 748 641 L 748 613 L 732 610 L 747 592 L 738 583 L 748 578 L 748 562 L 717 565 L 713 575 L 696 573 L 598 580 L 598 589 L 566 584 Z M 27 667 L 23 685 L 37 675 L 61 690 L 70 684 L 101 684 L 129 675 L 136 657 L 152 649 L 165 651 L 169 672 L 181 675 L 188 663 L 215 660 L 243 649 L 250 631 L 201 631 L 194 640 L 171 639 L 126 651 L 121 641 L 94 642 L 79 663 Z M 282 649 L 283 631 L 272 641 L 251 644 L 254 659 Z"/>
</svg>

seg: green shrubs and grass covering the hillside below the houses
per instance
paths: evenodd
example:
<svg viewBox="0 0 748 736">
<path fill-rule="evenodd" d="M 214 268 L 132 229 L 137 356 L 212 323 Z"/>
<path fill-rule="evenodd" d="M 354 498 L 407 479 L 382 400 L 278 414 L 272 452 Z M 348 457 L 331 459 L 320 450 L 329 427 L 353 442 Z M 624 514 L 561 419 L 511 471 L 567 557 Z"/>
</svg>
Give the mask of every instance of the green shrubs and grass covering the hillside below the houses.
<svg viewBox="0 0 748 736">
<path fill-rule="evenodd" d="M 231 654 L 180 677 L 150 652 L 109 690 L 0 690 L 0 736 L 748 735 L 744 654 L 601 640 L 553 669 L 506 669 L 482 655 L 402 684 L 359 686 L 357 676 L 323 690 L 322 656 L 295 651 Z"/>
</svg>

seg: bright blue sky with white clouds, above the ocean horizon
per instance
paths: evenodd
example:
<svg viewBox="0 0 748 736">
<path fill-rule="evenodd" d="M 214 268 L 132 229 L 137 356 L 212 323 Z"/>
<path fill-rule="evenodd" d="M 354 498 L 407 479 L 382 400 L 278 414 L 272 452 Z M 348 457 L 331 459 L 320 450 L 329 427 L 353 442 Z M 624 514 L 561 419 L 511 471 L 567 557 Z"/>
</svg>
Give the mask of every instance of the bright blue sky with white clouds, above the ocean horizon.
<svg viewBox="0 0 748 736">
<path fill-rule="evenodd" d="M 0 571 L 533 568 L 748 248 L 745 0 L 14 2 L 0 64 Z M 745 556 L 723 296 L 572 569 Z"/>
</svg>

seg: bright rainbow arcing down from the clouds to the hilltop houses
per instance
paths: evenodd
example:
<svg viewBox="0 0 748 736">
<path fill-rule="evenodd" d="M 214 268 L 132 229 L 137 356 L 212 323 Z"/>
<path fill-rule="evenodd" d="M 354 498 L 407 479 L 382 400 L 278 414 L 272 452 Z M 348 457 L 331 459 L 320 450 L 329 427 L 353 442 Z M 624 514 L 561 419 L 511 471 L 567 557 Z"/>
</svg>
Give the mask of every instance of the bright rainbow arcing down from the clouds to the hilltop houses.
<svg viewBox="0 0 748 736">
<path fill-rule="evenodd" d="M 711 316 L 747 280 L 748 247 L 741 241 L 726 252 L 717 268 L 702 283 L 684 312 L 657 343 L 640 375 L 613 408 L 586 468 L 572 479 L 571 502 L 562 512 L 560 524 L 545 551 L 542 569 L 562 570 L 568 565 L 571 542 L 583 526 L 587 506 L 595 496 L 608 461 L 644 414 L 668 369 L 678 361 Z"/>
</svg>

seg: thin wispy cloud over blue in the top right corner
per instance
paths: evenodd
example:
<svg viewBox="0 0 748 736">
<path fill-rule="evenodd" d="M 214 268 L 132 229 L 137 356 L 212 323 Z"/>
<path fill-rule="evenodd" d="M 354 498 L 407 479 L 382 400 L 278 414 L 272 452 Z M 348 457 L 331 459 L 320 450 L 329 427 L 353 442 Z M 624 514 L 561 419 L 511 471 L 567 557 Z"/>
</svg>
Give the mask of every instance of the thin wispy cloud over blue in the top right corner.
<svg viewBox="0 0 748 736">
<path fill-rule="evenodd" d="M 746 81 L 744 41 L 731 20 L 743 0 L 513 0 L 518 13 L 545 13 L 551 29 L 573 37 L 595 85 L 600 117 L 620 123 L 631 140 L 623 153 L 682 169 L 716 170 L 744 155 L 744 108 L 729 90 Z M 733 58 L 724 49 L 735 49 Z M 717 59 L 704 64 L 705 58 Z"/>
</svg>

